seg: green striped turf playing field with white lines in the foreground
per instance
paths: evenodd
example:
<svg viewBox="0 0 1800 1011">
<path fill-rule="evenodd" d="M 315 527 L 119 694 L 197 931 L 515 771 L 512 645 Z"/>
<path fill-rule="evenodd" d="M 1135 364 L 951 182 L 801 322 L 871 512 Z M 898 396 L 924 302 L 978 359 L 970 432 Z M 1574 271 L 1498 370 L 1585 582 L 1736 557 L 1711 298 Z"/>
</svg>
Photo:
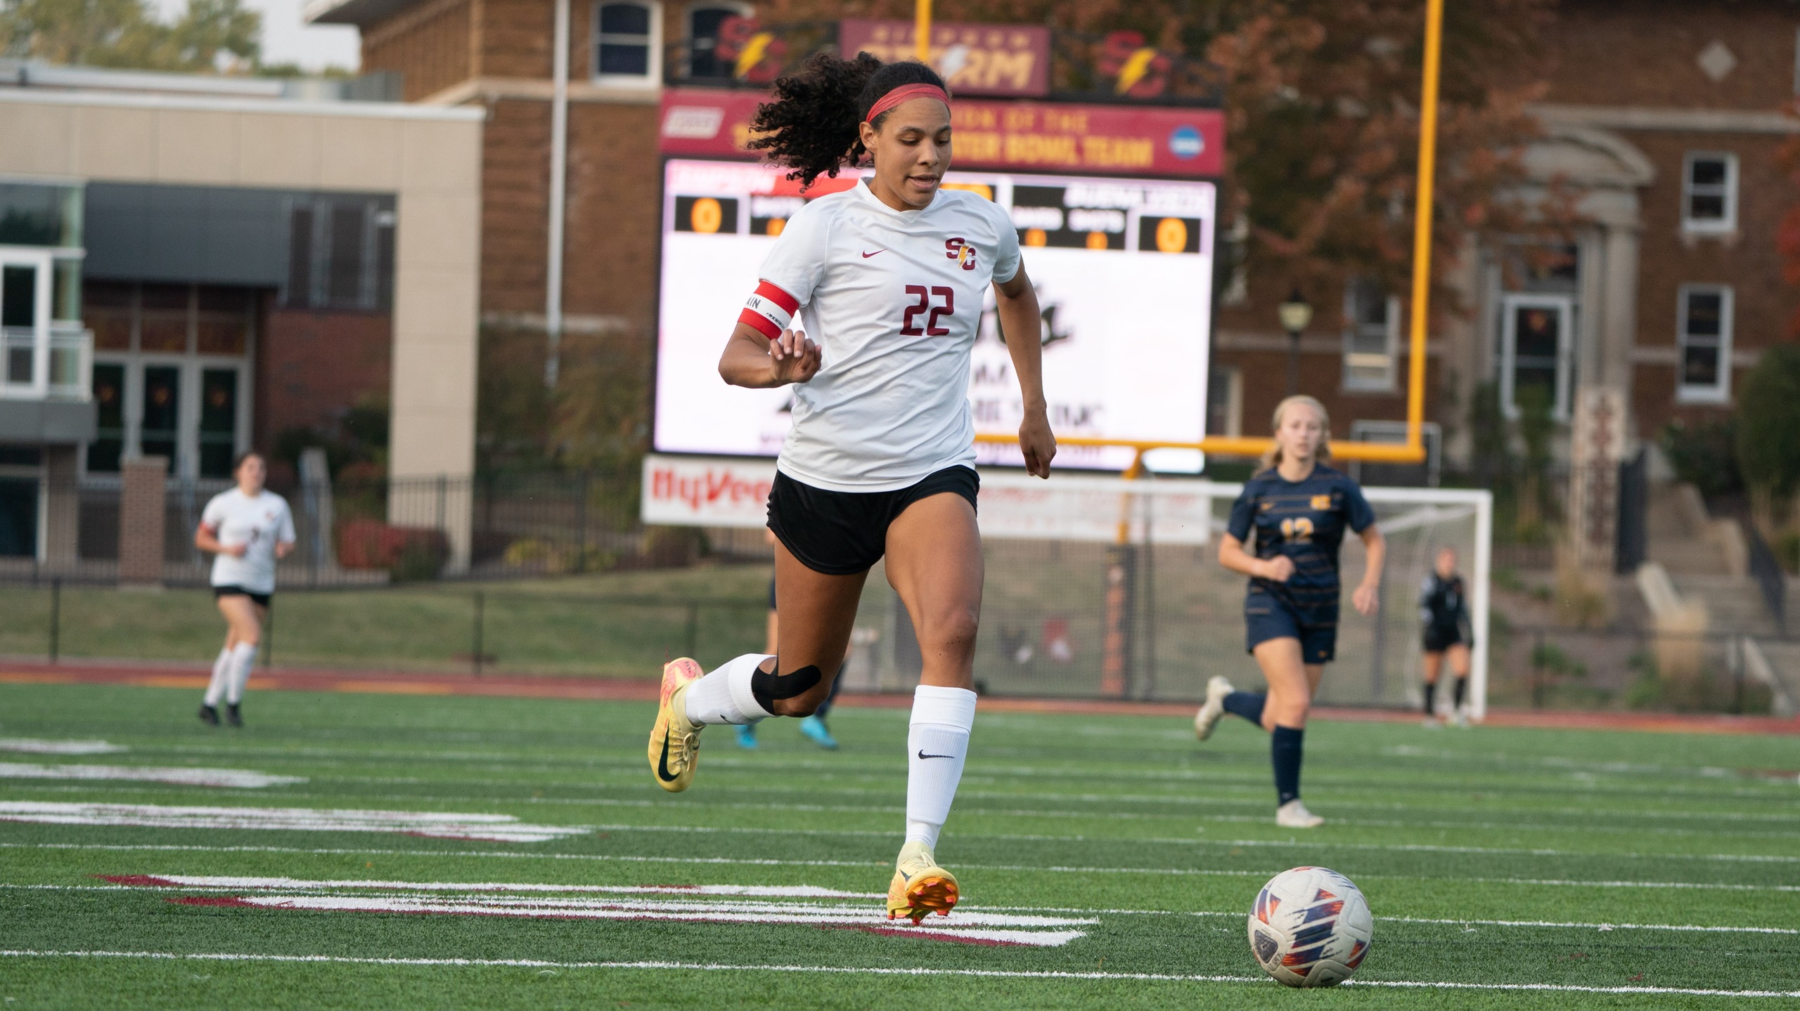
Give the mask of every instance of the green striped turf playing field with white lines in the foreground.
<svg viewBox="0 0 1800 1011">
<path fill-rule="evenodd" d="M 1242 721 L 1199 745 L 1183 720 L 985 711 L 938 847 L 963 883 L 958 914 L 1037 910 L 1091 923 L 1062 946 L 976 946 L 812 925 L 191 905 L 173 899 L 248 892 L 103 878 L 875 894 L 900 844 L 904 709 L 837 711 L 837 752 L 805 741 L 792 721 L 763 723 L 756 752 L 713 729 L 693 790 L 666 795 L 644 765 L 652 707 L 643 703 L 252 693 L 248 727 L 229 730 L 202 727 L 196 702 L 169 689 L 0 685 L 0 738 L 128 748 L 0 750 L 0 763 L 13 763 L 0 768 L 9 772 L 0 804 L 452 811 L 583 831 L 479 842 L 0 822 L 4 1007 L 1535 1011 L 1800 1000 L 1795 738 L 1319 721 L 1307 734 L 1305 795 L 1330 820 L 1301 833 L 1273 824 L 1267 738 Z M 18 765 L 306 781 L 20 779 Z M 1262 979 L 1244 914 L 1264 880 L 1301 863 L 1334 867 L 1368 894 L 1375 941 L 1355 982 L 1370 986 L 1300 993 Z M 452 959 L 513 964 L 443 964 Z M 1598 989 L 1372 986 L 1382 982 Z"/>
</svg>

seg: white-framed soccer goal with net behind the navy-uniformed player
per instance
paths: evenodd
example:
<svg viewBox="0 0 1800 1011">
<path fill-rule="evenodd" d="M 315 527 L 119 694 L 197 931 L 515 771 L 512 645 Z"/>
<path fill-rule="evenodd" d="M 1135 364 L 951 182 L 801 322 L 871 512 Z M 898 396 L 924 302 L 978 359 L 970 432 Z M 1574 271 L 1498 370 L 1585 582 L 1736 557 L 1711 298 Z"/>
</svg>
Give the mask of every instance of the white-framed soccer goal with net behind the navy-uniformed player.
<svg viewBox="0 0 1800 1011">
<path fill-rule="evenodd" d="M 1240 486 L 1192 479 L 981 475 L 986 588 L 976 680 L 994 694 L 1195 702 L 1226 675 L 1262 684 L 1244 649 L 1244 576 L 1217 559 Z M 1469 586 L 1476 648 L 1471 712 L 1487 703 L 1492 497 L 1476 489 L 1364 488 L 1388 540 L 1381 606 L 1350 606 L 1363 541 L 1345 536 L 1337 658 L 1319 705 L 1402 707 L 1420 700 L 1418 590 L 1453 547 Z M 918 682 L 913 624 L 880 570 L 869 574 L 846 687 Z"/>
</svg>

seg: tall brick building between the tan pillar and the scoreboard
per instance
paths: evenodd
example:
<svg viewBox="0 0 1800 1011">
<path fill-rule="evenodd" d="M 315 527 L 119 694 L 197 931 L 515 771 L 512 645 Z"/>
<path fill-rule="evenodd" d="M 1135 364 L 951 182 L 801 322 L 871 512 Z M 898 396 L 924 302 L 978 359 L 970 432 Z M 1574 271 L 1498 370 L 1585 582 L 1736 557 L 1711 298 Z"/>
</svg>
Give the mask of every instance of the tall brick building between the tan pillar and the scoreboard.
<svg viewBox="0 0 1800 1011">
<path fill-rule="evenodd" d="M 706 38 L 722 18 L 743 13 L 747 5 L 729 2 L 571 4 L 565 331 L 652 340 L 657 101 L 664 61 L 673 59 L 664 40 L 689 40 L 697 31 Z M 358 25 L 364 72 L 398 72 L 407 101 L 486 108 L 481 320 L 542 331 L 551 0 L 338 0 L 315 2 L 308 16 Z M 695 49 L 711 59 L 709 40 Z"/>
</svg>

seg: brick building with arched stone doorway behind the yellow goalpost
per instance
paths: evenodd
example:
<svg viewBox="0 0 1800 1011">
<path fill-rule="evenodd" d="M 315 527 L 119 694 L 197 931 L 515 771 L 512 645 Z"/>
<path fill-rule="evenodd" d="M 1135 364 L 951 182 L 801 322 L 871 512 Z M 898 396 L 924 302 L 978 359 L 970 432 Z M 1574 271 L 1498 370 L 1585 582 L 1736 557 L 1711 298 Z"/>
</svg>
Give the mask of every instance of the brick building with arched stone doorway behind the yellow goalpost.
<svg viewBox="0 0 1800 1011">
<path fill-rule="evenodd" d="M 1526 167 L 1573 183 L 1586 223 L 1535 264 L 1512 243 L 1463 252 L 1449 281 L 1471 311 L 1427 351 L 1427 417 L 1449 461 L 1469 452 L 1478 383 L 1496 383 L 1508 412 L 1541 383 L 1559 421 L 1579 390 L 1616 390 L 1634 441 L 1651 441 L 1672 419 L 1730 414 L 1742 371 L 1791 338 L 1800 299 L 1782 282 L 1775 232 L 1796 192 L 1775 155 L 1800 131 L 1784 113 L 1800 92 L 1796 29 L 1795 5 L 1778 0 L 1559 5 L 1543 32 L 1548 90 L 1532 110 L 1543 139 Z M 1215 390 L 1228 403 L 1215 419 L 1231 432 L 1260 434 L 1285 392 L 1244 381 L 1285 374 L 1274 302 L 1287 290 L 1273 288 L 1251 277 L 1220 308 Z M 1327 401 L 1339 434 L 1404 417 L 1408 293 L 1309 295 L 1319 311 L 1301 342 L 1301 389 Z"/>
</svg>

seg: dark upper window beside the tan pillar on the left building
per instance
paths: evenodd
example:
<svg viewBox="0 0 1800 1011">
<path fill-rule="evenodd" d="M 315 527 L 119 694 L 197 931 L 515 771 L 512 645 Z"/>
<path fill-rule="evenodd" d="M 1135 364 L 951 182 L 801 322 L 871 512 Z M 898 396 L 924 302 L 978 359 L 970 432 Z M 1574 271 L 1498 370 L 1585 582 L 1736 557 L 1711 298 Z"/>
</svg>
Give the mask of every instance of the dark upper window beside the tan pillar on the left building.
<svg viewBox="0 0 1800 1011">
<path fill-rule="evenodd" d="M 313 196 L 288 212 L 288 309 L 385 313 L 394 297 L 394 200 Z"/>
</svg>

